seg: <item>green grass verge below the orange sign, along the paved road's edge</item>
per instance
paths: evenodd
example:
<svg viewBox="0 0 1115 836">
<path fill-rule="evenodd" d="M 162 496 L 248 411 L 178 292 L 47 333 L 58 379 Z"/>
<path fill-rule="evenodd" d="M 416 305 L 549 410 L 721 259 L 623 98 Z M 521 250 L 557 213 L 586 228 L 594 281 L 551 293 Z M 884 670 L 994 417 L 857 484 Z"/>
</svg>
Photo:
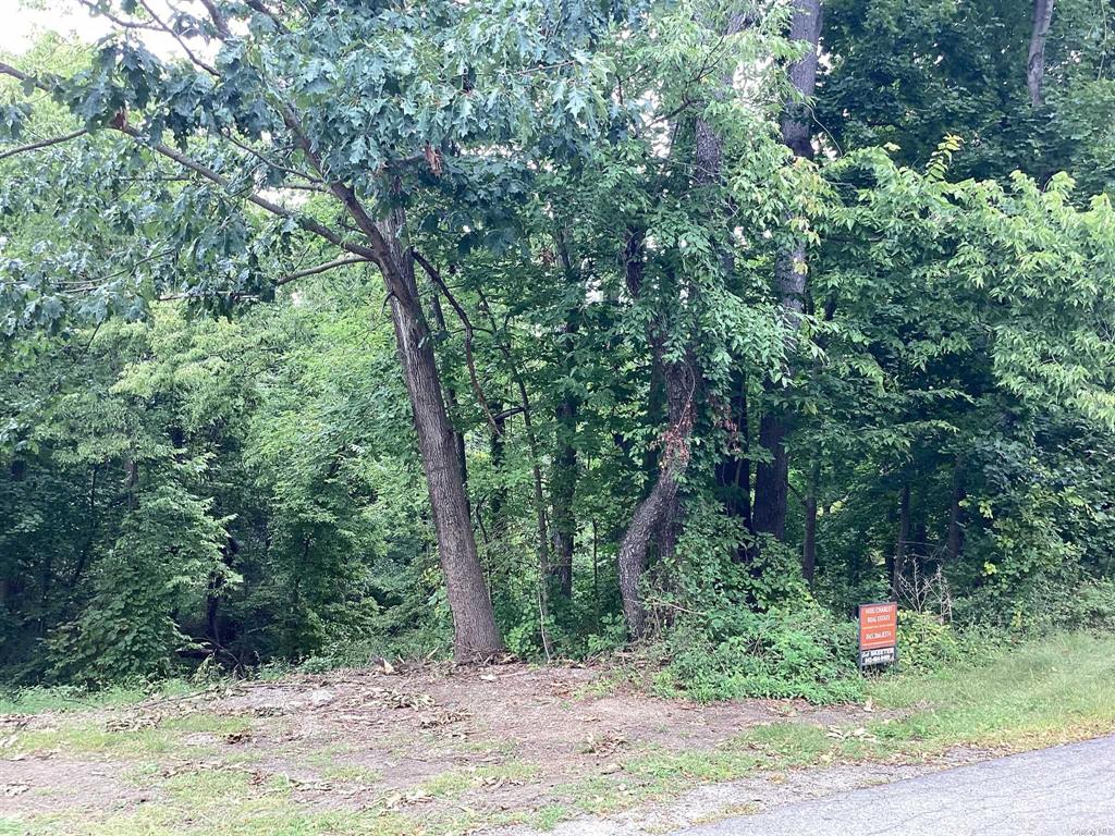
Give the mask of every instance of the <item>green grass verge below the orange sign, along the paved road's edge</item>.
<svg viewBox="0 0 1115 836">
<path fill-rule="evenodd" d="M 873 710 L 859 727 L 787 721 L 749 729 L 711 752 L 643 754 L 621 762 L 621 777 L 591 778 L 565 800 L 607 815 L 756 772 L 918 762 L 960 747 L 1010 754 L 1115 732 L 1115 636 L 1066 633 L 979 662 L 873 680 Z"/>
</svg>

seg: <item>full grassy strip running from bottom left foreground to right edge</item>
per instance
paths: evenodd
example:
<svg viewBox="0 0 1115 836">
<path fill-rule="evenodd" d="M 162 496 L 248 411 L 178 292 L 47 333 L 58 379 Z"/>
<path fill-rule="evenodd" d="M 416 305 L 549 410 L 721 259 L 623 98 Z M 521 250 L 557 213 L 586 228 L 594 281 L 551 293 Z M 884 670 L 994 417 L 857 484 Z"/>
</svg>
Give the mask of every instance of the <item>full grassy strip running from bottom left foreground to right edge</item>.
<svg viewBox="0 0 1115 836">
<path fill-rule="evenodd" d="M 56 731 L 23 732 L 28 737 L 18 748 L 123 761 L 144 785 L 154 780 L 157 793 L 138 809 L 118 813 L 7 822 L 0 816 L 0 835 L 448 836 L 501 825 L 549 829 L 578 815 L 668 801 L 699 785 L 756 775 L 841 764 L 917 762 L 959 747 L 1005 754 L 1115 731 L 1115 635 L 1063 634 L 975 662 L 983 663 L 872 680 L 870 703 L 855 715 L 861 722 L 851 726 L 824 728 L 787 719 L 748 729 L 712 751 L 679 752 L 634 741 L 615 754 L 614 762 L 585 762 L 568 782 L 540 787 L 535 800 L 511 808 L 485 803 L 487 776 L 481 774 L 439 776 L 416 788 L 425 800 L 414 806 L 362 810 L 303 804 L 289 781 L 274 776 L 252 781 L 249 771 L 231 762 L 227 768 L 157 777 L 165 757 L 182 754 L 184 735 L 235 730 L 229 718 L 197 715 L 140 731 L 62 725 Z M 514 766 L 512 777 L 530 785 L 532 765 Z M 376 795 L 372 787 L 369 791 Z"/>
</svg>

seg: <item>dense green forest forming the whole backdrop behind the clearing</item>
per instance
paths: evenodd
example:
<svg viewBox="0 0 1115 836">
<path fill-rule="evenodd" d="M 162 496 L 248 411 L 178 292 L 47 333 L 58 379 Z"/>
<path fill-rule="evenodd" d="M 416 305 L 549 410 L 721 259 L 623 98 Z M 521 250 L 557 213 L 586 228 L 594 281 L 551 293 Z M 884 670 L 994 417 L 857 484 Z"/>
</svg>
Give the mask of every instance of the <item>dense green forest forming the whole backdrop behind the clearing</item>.
<svg viewBox="0 0 1115 836">
<path fill-rule="evenodd" d="M 1104 0 L 86 6 L 0 61 L 6 681 L 1115 621 Z"/>
</svg>

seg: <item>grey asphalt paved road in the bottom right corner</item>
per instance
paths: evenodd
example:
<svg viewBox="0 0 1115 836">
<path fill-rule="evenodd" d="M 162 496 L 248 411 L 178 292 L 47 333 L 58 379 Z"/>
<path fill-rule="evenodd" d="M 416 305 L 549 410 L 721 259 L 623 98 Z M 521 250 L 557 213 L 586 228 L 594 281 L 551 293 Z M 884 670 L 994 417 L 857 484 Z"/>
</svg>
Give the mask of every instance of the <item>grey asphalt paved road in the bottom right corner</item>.
<svg viewBox="0 0 1115 836">
<path fill-rule="evenodd" d="M 680 830 L 676 836 L 1115 836 L 1115 737 Z"/>
</svg>

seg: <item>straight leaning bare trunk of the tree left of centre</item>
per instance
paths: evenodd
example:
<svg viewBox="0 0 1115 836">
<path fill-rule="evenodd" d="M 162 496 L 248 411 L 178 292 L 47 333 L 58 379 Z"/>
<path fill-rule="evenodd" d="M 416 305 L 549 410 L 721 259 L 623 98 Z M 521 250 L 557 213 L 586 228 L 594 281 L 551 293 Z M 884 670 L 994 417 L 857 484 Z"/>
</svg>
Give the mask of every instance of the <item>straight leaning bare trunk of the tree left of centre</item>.
<svg viewBox="0 0 1115 836">
<path fill-rule="evenodd" d="M 503 641 L 476 554 L 457 438 L 445 410 L 434 341 L 415 283 L 414 261 L 399 242 L 401 221 L 396 215 L 381 223 L 381 234 L 390 253 L 380 269 L 390 294 L 391 322 L 410 396 L 437 533 L 437 551 L 453 611 L 454 657 L 462 662 L 483 660 L 503 650 Z"/>
</svg>

